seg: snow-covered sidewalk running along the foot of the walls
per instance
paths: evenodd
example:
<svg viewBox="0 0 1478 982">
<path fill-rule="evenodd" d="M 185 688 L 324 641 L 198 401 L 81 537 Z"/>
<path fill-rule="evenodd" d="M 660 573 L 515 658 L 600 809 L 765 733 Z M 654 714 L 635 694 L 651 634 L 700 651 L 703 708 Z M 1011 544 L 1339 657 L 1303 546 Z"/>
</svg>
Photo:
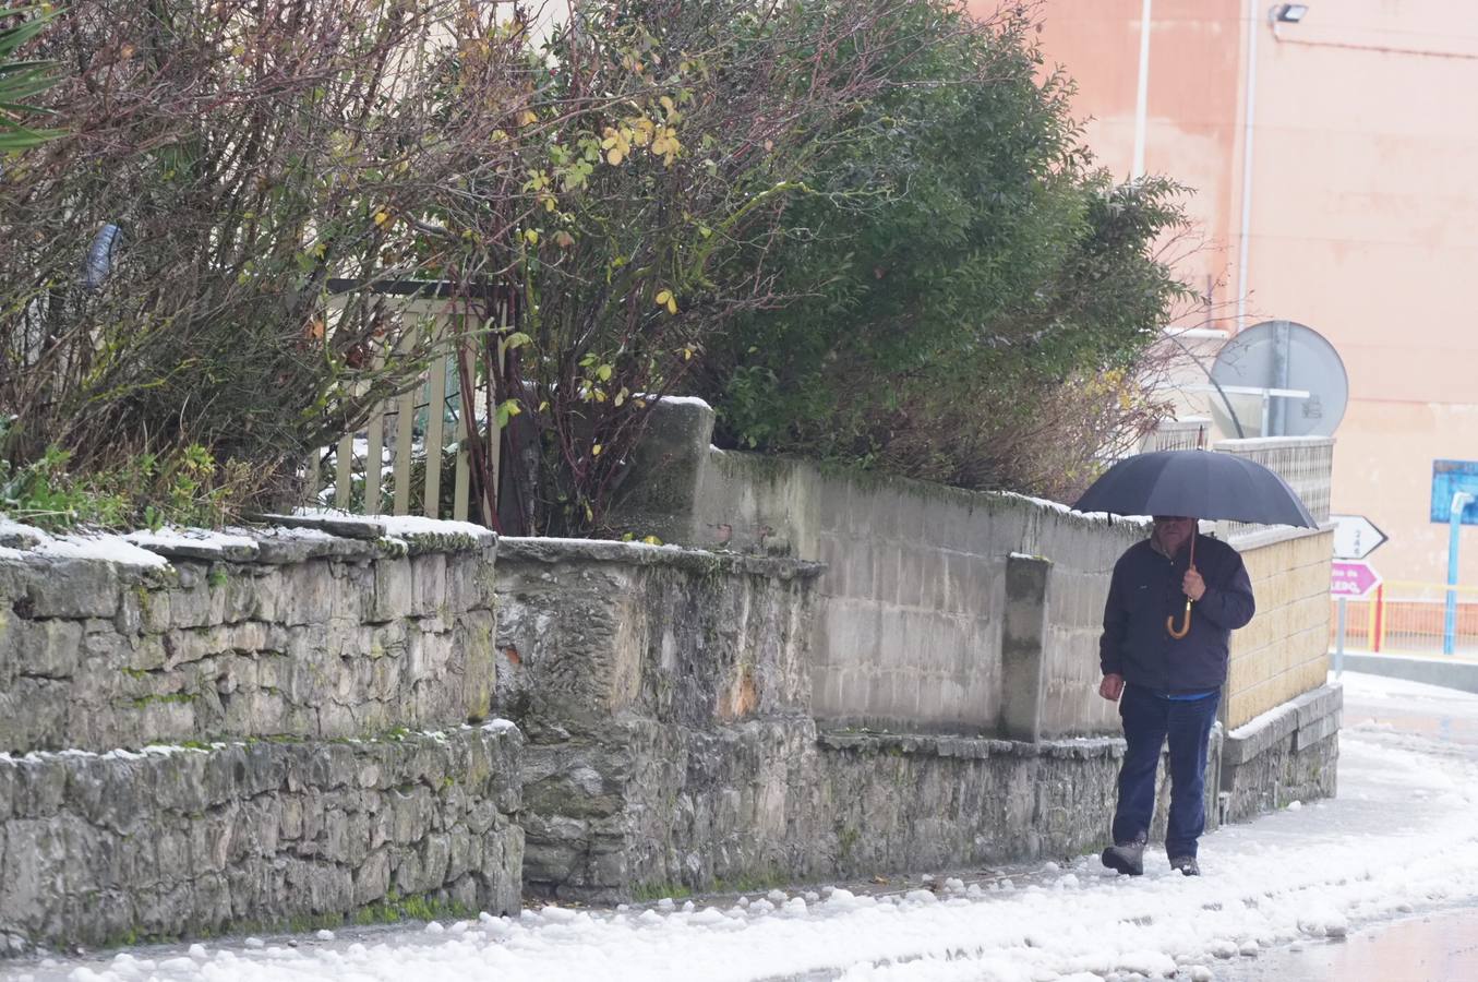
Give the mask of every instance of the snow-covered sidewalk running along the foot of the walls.
<svg viewBox="0 0 1478 982">
<path fill-rule="evenodd" d="M 940 895 L 752 895 L 721 907 L 544 908 L 519 918 L 350 938 L 140 948 L 9 966 L 35 979 L 1212 979 L 1258 951 L 1413 910 L 1478 899 L 1478 697 L 1345 676 L 1339 799 L 1234 825 L 1202 843 L 1206 876 L 1165 853 L 1126 878 L 1097 858 Z"/>
</svg>

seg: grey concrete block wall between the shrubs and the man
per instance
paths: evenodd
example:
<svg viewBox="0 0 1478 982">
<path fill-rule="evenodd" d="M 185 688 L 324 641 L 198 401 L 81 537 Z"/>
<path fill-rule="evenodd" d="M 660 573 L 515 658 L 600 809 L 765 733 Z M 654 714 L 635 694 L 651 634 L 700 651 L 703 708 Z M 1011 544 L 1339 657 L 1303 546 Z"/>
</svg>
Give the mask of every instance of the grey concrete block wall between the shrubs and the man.
<svg viewBox="0 0 1478 982">
<path fill-rule="evenodd" d="M 1098 633 L 1113 563 L 1142 525 L 1020 495 L 712 450 L 711 411 L 695 404 L 659 417 L 646 451 L 658 470 L 631 481 L 619 513 L 634 532 L 826 566 L 811 642 L 823 725 L 1007 732 L 1014 697 L 1002 670 L 1004 583 L 1009 556 L 1026 553 L 1052 563 L 1041 735 L 1117 729 L 1113 707 L 1097 697 Z"/>
</svg>

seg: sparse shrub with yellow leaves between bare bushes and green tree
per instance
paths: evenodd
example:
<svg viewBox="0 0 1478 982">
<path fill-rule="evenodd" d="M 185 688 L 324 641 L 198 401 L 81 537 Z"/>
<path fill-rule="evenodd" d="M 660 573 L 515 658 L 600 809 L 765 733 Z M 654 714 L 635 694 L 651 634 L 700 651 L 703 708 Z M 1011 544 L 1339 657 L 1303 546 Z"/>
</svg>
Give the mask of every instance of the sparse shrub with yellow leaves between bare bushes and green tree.
<svg viewBox="0 0 1478 982">
<path fill-rule="evenodd" d="M 550 37 L 519 151 L 538 207 L 455 219 L 519 290 L 505 362 L 480 355 L 525 435 L 517 528 L 600 529 L 653 402 L 738 318 L 794 299 L 785 204 L 829 152 L 817 135 L 888 84 L 909 1 L 582 3 Z"/>
</svg>

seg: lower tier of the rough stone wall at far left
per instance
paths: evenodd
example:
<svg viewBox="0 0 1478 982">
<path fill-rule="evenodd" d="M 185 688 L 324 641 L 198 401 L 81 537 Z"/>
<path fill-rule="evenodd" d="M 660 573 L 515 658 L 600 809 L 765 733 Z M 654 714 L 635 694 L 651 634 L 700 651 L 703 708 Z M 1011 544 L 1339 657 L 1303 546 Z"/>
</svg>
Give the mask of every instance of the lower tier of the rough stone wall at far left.
<svg viewBox="0 0 1478 982">
<path fill-rule="evenodd" d="M 0 756 L 0 942 L 519 910 L 519 734 Z"/>
</svg>

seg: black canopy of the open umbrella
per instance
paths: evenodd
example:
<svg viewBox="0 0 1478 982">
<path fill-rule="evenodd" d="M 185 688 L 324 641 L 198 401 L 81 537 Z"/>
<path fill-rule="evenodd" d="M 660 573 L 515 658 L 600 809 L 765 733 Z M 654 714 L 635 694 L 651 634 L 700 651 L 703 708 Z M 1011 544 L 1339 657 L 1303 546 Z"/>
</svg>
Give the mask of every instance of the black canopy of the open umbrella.
<svg viewBox="0 0 1478 982">
<path fill-rule="evenodd" d="M 1246 457 L 1209 450 L 1162 450 L 1120 460 L 1073 507 L 1318 528 L 1283 478 Z"/>
</svg>

